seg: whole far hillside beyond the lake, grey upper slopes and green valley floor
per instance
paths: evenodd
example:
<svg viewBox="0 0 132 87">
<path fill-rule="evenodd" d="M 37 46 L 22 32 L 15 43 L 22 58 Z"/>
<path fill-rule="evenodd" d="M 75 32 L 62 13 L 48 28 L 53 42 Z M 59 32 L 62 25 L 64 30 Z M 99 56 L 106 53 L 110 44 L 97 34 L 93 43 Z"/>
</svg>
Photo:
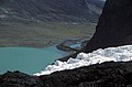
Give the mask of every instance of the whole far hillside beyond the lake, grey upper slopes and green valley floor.
<svg viewBox="0 0 132 87">
<path fill-rule="evenodd" d="M 70 37 L 91 36 L 103 3 L 100 0 L 0 0 L 0 46 L 45 47 Z"/>
</svg>

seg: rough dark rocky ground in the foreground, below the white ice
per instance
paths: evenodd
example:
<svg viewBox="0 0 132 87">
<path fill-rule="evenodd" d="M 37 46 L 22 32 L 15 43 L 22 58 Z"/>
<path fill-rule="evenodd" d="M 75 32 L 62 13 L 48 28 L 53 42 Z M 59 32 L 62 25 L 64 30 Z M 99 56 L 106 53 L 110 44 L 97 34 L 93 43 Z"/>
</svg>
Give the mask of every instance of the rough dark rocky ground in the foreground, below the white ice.
<svg viewBox="0 0 132 87">
<path fill-rule="evenodd" d="M 38 77 L 8 72 L 0 87 L 132 87 L 131 79 L 132 62 L 109 62 Z"/>
</svg>

